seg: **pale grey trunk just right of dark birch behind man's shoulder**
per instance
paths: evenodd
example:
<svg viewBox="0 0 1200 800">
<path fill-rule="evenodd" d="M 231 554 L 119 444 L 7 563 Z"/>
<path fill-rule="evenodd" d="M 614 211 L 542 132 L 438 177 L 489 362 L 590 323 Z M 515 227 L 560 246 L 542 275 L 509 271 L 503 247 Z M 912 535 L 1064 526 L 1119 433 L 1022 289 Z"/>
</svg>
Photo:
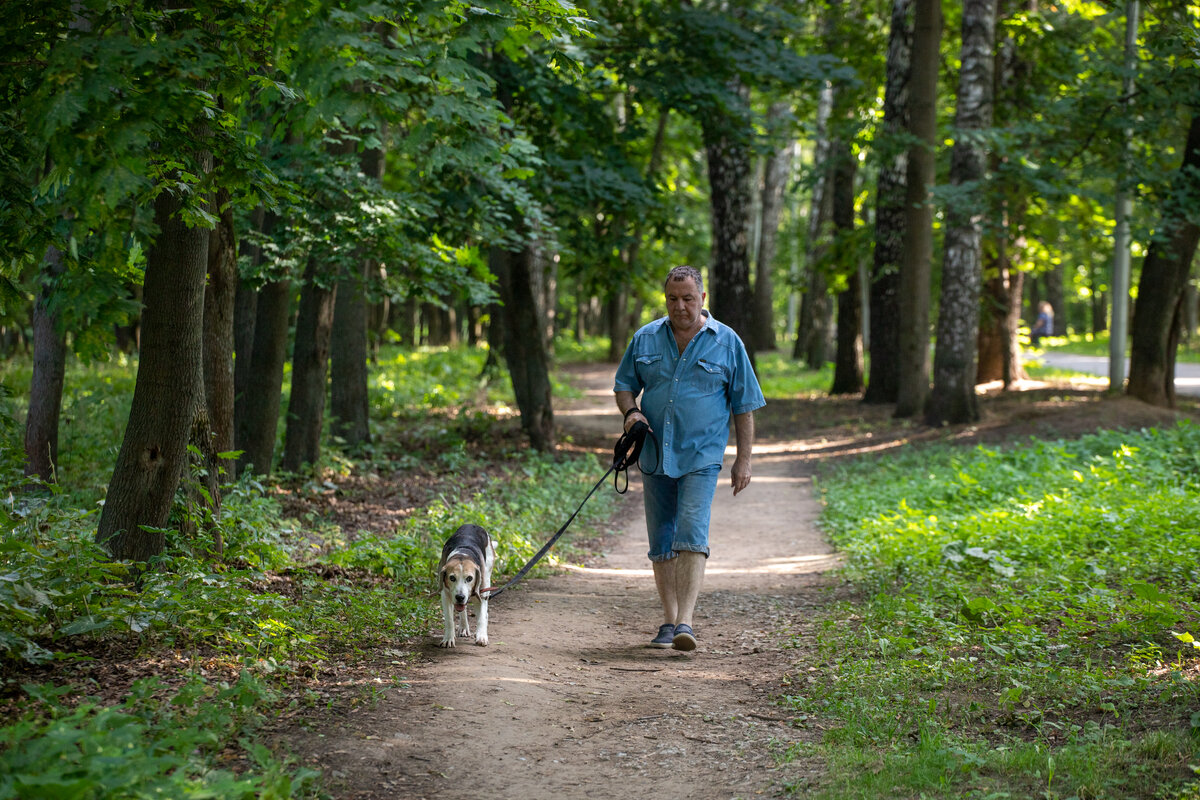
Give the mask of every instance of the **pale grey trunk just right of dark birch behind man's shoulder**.
<svg viewBox="0 0 1200 800">
<path fill-rule="evenodd" d="M 796 143 L 790 133 L 785 133 L 782 119 L 790 110 L 788 103 L 772 103 L 767 112 L 767 127 L 775 137 L 781 137 L 786 144 L 769 156 L 762 175 L 762 201 L 761 219 L 758 230 L 758 247 L 755 253 L 755 279 L 754 279 L 754 329 L 752 342 L 748 342 L 755 350 L 775 349 L 775 291 L 772 279 L 772 265 L 775 260 L 776 243 L 779 241 L 779 218 L 784 209 L 784 188 L 792 173 L 792 158 L 796 152 Z"/>
</svg>

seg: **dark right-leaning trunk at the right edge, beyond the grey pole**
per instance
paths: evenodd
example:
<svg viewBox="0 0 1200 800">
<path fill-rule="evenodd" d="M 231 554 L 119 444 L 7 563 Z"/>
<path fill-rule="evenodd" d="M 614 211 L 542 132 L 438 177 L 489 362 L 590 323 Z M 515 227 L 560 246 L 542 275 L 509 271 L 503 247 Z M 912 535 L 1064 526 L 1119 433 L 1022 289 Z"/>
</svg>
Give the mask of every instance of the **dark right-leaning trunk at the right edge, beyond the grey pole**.
<svg viewBox="0 0 1200 800">
<path fill-rule="evenodd" d="M 1163 203 L 1158 230 L 1141 264 L 1138 305 L 1129 349 L 1130 397 L 1152 405 L 1175 407 L 1172 329 L 1182 324 L 1183 287 L 1192 270 L 1200 225 L 1194 222 L 1200 199 L 1200 115 L 1192 118 L 1183 163 Z"/>
</svg>

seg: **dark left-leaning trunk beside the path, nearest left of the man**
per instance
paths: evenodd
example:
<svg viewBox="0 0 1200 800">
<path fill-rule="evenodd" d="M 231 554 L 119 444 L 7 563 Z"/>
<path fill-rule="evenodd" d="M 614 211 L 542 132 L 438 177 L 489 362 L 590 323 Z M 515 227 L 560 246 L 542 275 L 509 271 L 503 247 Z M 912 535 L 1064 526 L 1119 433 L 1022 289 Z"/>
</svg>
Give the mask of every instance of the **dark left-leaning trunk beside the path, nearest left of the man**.
<svg viewBox="0 0 1200 800">
<path fill-rule="evenodd" d="M 534 450 L 554 450 L 554 409 L 550 359 L 534 302 L 533 247 L 520 252 L 492 247 L 488 266 L 497 277 L 504 337 L 504 361 L 521 410 L 521 426 Z"/>
</svg>

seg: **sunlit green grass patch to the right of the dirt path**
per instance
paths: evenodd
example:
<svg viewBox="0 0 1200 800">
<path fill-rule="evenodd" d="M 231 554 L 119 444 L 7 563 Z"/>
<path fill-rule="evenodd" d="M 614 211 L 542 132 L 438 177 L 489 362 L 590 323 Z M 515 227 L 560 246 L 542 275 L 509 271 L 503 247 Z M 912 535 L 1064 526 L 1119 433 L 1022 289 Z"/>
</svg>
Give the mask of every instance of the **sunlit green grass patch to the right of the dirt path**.
<svg viewBox="0 0 1200 800">
<path fill-rule="evenodd" d="M 787 703 L 816 798 L 1178 798 L 1200 764 L 1200 426 L 820 476 L 860 599 Z"/>
</svg>

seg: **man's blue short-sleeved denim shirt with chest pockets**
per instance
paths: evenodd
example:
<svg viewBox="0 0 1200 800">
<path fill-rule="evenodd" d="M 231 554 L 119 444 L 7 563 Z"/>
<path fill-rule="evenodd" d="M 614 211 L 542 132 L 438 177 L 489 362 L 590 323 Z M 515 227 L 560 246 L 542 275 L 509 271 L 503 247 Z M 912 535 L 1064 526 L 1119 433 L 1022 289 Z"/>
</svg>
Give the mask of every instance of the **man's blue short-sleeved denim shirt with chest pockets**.
<svg viewBox="0 0 1200 800">
<path fill-rule="evenodd" d="M 613 391 L 642 395 L 642 414 L 659 447 L 642 450 L 641 467 L 680 477 L 720 465 L 730 441 L 730 415 L 767 404 L 745 345 L 704 312 L 707 324 L 683 354 L 666 317 L 644 325 L 625 349 Z M 655 452 L 658 451 L 658 452 Z"/>
</svg>

